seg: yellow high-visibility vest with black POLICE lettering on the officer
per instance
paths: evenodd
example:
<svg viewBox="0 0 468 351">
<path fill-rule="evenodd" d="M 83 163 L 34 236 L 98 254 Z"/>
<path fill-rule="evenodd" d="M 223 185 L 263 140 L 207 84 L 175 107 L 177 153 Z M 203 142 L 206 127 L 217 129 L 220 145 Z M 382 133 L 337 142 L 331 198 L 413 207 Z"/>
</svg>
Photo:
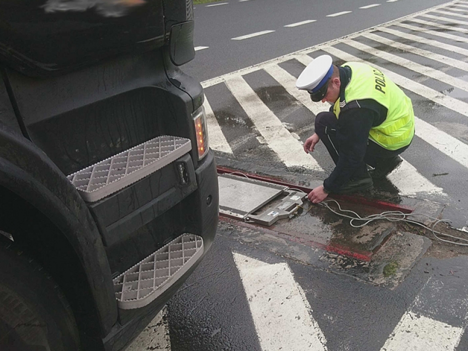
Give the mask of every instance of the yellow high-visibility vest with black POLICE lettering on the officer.
<svg viewBox="0 0 468 351">
<path fill-rule="evenodd" d="M 346 62 L 351 68 L 351 80 L 345 88 L 345 100 L 336 100 L 333 113 L 339 118 L 352 101 L 373 99 L 385 106 L 387 117 L 382 124 L 372 127 L 369 138 L 388 150 L 409 145 L 414 136 L 414 113 L 411 99 L 379 70 L 359 62 Z"/>
</svg>

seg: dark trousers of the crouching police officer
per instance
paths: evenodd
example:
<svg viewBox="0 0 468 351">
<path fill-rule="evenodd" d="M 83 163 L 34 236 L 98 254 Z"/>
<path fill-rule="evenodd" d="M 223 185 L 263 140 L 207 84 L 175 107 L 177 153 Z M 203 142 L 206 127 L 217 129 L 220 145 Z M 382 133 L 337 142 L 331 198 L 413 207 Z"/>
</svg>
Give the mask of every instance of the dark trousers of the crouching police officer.
<svg viewBox="0 0 468 351">
<path fill-rule="evenodd" d="M 340 156 L 340 148 L 336 140 L 336 128 L 338 126 L 338 119 L 332 112 L 321 112 L 315 117 L 315 133 L 320 137 L 320 140 L 327 148 L 333 162 L 338 163 Z M 408 146 L 402 147 L 398 150 L 387 150 L 377 144 L 376 142 L 368 139 L 366 155 L 362 165 L 356 170 L 353 176 L 362 176 L 367 172 L 366 164 L 375 168 L 380 162 L 385 162 L 385 159 L 398 156 L 403 151 L 408 149 Z"/>
</svg>

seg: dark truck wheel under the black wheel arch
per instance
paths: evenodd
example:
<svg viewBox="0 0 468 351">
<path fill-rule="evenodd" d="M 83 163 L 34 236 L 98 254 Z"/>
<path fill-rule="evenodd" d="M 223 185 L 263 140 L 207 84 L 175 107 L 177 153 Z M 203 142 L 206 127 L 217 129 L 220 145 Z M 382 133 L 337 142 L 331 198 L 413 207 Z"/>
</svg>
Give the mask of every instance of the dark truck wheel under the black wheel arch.
<svg viewBox="0 0 468 351">
<path fill-rule="evenodd" d="M 36 261 L 3 238 L 0 238 L 0 350 L 79 350 L 75 318 L 58 285 Z"/>
</svg>

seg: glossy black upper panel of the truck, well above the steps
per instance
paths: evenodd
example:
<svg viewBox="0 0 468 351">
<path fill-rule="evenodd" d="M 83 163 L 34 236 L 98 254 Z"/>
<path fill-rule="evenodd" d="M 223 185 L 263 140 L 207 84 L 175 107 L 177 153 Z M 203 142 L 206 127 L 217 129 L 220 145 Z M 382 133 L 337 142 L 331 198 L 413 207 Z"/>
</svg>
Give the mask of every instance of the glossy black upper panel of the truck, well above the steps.
<svg viewBox="0 0 468 351">
<path fill-rule="evenodd" d="M 0 61 L 29 76 L 152 50 L 164 39 L 162 0 L 0 2 Z"/>
</svg>

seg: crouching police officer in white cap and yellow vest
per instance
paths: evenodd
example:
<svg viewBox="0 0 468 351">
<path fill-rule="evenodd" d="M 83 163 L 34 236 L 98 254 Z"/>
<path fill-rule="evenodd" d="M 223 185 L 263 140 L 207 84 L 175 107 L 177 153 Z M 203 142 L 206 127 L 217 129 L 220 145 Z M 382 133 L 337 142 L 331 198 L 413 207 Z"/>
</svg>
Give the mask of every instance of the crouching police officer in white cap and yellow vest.
<svg viewBox="0 0 468 351">
<path fill-rule="evenodd" d="M 411 100 L 379 70 L 359 62 L 333 65 L 328 55 L 314 59 L 296 82 L 314 102 L 330 102 L 330 112 L 315 117 L 315 133 L 304 143 L 312 152 L 322 140 L 335 168 L 308 198 L 313 203 L 329 193 L 373 188 L 402 162 L 414 136 Z M 370 171 L 368 171 L 368 166 Z"/>
</svg>

